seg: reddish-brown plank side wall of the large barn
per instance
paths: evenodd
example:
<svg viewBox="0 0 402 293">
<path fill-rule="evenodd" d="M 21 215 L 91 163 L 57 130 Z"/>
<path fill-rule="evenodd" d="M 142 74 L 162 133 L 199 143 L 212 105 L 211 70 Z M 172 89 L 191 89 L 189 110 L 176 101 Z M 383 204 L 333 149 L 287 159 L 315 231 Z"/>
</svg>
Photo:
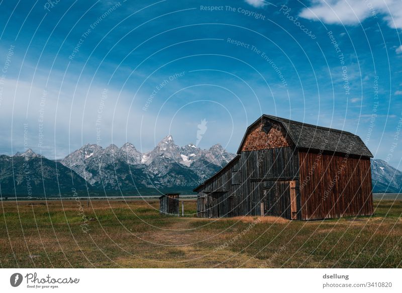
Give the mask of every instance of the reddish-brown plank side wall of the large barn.
<svg viewBox="0 0 402 293">
<path fill-rule="evenodd" d="M 370 158 L 299 150 L 302 219 L 373 213 Z"/>
</svg>

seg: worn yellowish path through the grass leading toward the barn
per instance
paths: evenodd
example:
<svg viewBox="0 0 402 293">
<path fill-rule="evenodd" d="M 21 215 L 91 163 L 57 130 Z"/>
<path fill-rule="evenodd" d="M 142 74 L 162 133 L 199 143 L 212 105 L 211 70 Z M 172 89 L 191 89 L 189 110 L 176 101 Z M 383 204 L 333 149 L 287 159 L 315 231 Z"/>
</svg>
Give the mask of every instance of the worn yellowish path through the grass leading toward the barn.
<svg viewBox="0 0 402 293">
<path fill-rule="evenodd" d="M 177 219 L 167 229 L 157 229 L 144 233 L 145 242 L 153 243 L 152 252 L 144 259 L 125 257 L 116 260 L 124 267 L 265 267 L 266 263 L 252 258 L 245 253 L 236 253 L 230 249 L 217 249 L 219 234 L 208 230 L 192 229 L 191 223 L 210 221 L 209 219 Z M 220 243 L 205 245 L 208 243 Z M 155 244 L 156 243 L 156 244 Z M 156 247 L 156 249 L 155 249 Z"/>
</svg>

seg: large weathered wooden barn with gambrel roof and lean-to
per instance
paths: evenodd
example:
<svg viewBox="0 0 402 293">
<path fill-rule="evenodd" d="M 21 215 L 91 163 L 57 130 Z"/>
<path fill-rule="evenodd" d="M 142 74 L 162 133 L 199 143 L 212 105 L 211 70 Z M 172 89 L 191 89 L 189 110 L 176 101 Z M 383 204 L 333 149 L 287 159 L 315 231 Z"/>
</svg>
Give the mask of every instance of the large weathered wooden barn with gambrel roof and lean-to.
<svg viewBox="0 0 402 293">
<path fill-rule="evenodd" d="M 197 216 L 372 215 L 371 157 L 350 132 L 263 115 L 247 128 L 237 156 L 194 189 Z"/>
</svg>

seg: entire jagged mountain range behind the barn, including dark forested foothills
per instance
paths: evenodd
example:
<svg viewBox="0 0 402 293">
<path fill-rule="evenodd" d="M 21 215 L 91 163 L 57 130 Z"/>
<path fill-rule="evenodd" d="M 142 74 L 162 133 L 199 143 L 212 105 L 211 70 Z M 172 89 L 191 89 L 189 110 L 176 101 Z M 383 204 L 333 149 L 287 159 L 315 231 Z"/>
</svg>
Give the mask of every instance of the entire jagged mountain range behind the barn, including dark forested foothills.
<svg viewBox="0 0 402 293">
<path fill-rule="evenodd" d="M 87 144 L 62 160 L 49 160 L 31 149 L 0 155 L 1 196 L 50 196 L 72 190 L 97 194 L 190 192 L 225 166 L 235 154 L 220 144 L 202 150 L 177 146 L 171 135 L 149 152 L 131 143 L 121 148 Z M 371 160 L 373 192 L 399 192 L 402 172 L 379 159 Z M 45 193 L 46 191 L 46 193 Z"/>
</svg>

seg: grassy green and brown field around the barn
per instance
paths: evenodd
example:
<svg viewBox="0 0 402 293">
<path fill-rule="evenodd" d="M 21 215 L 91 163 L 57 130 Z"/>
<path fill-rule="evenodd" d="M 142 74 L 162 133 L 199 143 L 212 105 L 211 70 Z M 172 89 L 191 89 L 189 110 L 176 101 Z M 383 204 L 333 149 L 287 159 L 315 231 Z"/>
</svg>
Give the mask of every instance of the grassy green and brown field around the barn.
<svg viewBox="0 0 402 293">
<path fill-rule="evenodd" d="M 402 201 L 372 217 L 164 217 L 151 201 L 0 202 L 1 267 L 402 267 Z"/>
</svg>

